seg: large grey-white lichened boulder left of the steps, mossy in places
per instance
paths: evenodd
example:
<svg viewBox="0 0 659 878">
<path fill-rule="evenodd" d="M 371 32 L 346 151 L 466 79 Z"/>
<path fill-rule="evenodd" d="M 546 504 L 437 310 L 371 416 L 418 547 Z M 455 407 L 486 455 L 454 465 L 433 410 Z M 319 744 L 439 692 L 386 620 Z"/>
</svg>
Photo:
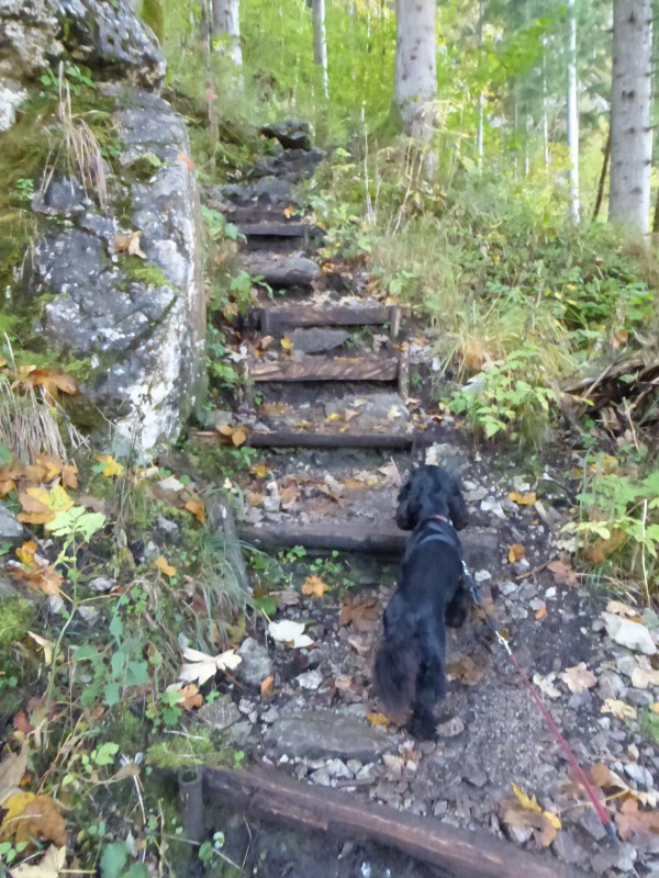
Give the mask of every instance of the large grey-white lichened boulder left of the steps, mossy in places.
<svg viewBox="0 0 659 878">
<path fill-rule="evenodd" d="M 132 210 L 126 232 L 142 233 L 146 258 L 135 266 L 136 257 L 114 252 L 116 223 L 108 224 L 99 207 L 97 223 L 88 211 L 83 227 L 44 227 L 30 288 L 49 296 L 41 328 L 52 347 L 90 361 L 79 410 L 100 408 L 114 421 L 115 452 L 135 447 L 146 454 L 178 436 L 202 389 L 199 199 L 193 172 L 178 159 L 190 150 L 183 120 L 152 94 L 119 87 L 103 91 L 118 103 L 130 103 L 114 114 L 124 144 L 120 164 L 130 165 L 147 151 L 160 162 L 148 181 L 131 179 L 122 187 Z M 60 191 L 58 210 L 74 215 L 74 195 L 62 207 Z M 120 206 L 125 212 L 125 202 Z M 107 429 L 100 418 L 98 426 Z"/>
</svg>

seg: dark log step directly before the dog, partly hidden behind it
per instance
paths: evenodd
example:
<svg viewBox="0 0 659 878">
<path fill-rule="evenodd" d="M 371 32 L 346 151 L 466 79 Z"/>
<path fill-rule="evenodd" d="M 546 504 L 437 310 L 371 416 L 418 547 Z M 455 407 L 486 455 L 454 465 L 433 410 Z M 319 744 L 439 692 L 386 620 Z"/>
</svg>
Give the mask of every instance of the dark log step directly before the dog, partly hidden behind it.
<svg viewBox="0 0 659 878">
<path fill-rule="evenodd" d="M 359 519 L 323 519 L 308 525 L 268 525 L 238 528 L 243 542 L 259 549 L 286 549 L 303 545 L 311 551 L 360 552 L 393 558 L 402 554 L 407 533 L 393 521 L 360 521 Z M 498 558 L 499 538 L 489 530 L 469 528 L 460 532 L 462 553 L 469 567 L 488 567 Z"/>
</svg>

